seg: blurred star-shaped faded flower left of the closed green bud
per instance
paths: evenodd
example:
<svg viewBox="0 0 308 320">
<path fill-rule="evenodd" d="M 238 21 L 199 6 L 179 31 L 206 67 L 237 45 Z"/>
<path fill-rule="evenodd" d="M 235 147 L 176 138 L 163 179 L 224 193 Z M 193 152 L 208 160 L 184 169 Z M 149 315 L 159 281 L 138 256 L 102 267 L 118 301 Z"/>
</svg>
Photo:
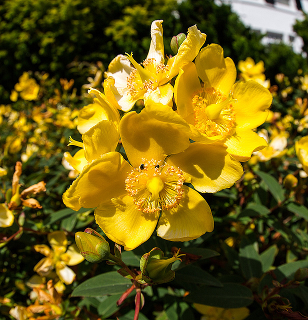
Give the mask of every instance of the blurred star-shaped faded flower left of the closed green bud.
<svg viewBox="0 0 308 320">
<path fill-rule="evenodd" d="M 46 244 L 34 245 L 35 251 L 45 255 L 36 265 L 34 271 L 40 276 L 48 275 L 55 268 L 57 276 L 65 284 L 70 284 L 76 274 L 67 265 L 76 265 L 83 261 L 77 246 L 71 244 L 67 247 L 67 238 L 63 231 L 54 231 L 48 234 L 48 242 L 51 249 Z"/>
</svg>

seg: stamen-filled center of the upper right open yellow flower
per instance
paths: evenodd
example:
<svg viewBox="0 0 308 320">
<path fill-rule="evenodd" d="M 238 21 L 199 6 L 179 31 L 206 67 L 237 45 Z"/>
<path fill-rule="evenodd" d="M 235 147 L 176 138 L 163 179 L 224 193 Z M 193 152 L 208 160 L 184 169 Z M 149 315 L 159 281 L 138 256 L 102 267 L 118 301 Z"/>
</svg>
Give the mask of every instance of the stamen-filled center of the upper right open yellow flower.
<svg viewBox="0 0 308 320">
<path fill-rule="evenodd" d="M 231 135 L 235 128 L 235 102 L 230 94 L 225 96 L 213 87 L 202 89 L 192 98 L 194 126 L 207 136 Z"/>
</svg>

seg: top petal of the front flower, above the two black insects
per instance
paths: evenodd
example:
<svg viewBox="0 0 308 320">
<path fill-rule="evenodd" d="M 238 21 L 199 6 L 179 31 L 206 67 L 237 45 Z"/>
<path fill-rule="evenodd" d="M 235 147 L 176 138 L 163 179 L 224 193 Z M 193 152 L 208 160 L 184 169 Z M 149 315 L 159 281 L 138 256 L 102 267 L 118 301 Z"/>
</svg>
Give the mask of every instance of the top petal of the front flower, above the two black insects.
<svg viewBox="0 0 308 320">
<path fill-rule="evenodd" d="M 133 167 L 147 160 L 163 160 L 166 155 L 189 145 L 189 125 L 169 106 L 153 103 L 140 113 L 126 113 L 119 124 L 126 155 Z"/>
</svg>

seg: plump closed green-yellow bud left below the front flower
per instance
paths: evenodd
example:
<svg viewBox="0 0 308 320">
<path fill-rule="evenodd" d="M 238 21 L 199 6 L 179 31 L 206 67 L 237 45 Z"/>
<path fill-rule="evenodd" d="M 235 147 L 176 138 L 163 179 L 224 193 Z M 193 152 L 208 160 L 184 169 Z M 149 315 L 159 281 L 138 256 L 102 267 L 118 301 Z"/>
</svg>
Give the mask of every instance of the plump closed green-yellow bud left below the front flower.
<svg viewBox="0 0 308 320">
<path fill-rule="evenodd" d="M 91 228 L 76 232 L 75 241 L 81 255 L 89 262 L 98 263 L 109 257 L 109 243 Z"/>
</svg>

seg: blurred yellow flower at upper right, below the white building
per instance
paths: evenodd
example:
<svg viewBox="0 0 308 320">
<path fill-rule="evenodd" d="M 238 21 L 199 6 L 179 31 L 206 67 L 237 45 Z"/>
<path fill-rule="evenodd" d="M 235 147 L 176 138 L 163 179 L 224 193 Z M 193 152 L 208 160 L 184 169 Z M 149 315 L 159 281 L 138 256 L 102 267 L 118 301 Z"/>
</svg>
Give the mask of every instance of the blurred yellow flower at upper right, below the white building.
<svg viewBox="0 0 308 320">
<path fill-rule="evenodd" d="M 254 60 L 250 56 L 248 56 L 244 61 L 239 60 L 237 67 L 241 72 L 239 74 L 240 77 L 245 81 L 254 80 L 267 89 L 270 87 L 270 81 L 268 79 L 266 80 L 265 78 L 265 68 L 264 62 L 262 60 L 254 63 Z"/>
</svg>

